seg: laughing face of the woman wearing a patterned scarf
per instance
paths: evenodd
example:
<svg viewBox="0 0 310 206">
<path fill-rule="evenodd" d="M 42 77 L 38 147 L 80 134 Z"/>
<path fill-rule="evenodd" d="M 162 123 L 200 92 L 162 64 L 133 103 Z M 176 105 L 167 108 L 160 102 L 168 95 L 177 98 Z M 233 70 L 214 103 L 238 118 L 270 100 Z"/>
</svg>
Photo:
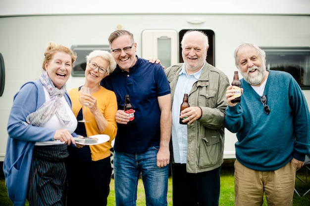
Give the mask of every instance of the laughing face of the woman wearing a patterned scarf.
<svg viewBox="0 0 310 206">
<path fill-rule="evenodd" d="M 54 86 L 60 89 L 70 77 L 72 71 L 71 56 L 65 52 L 55 52 L 51 61 L 45 62 L 44 65 Z"/>
</svg>

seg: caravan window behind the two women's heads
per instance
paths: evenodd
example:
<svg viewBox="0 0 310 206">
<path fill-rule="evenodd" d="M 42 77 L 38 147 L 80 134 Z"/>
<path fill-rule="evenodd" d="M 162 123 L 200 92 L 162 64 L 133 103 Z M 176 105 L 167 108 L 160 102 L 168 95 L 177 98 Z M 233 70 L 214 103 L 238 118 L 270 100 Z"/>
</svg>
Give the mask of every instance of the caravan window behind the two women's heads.
<svg viewBox="0 0 310 206">
<path fill-rule="evenodd" d="M 109 50 L 109 45 L 72 45 L 71 50 L 76 52 L 77 58 L 72 68 L 72 77 L 85 77 L 86 56 L 94 50 Z"/>
</svg>

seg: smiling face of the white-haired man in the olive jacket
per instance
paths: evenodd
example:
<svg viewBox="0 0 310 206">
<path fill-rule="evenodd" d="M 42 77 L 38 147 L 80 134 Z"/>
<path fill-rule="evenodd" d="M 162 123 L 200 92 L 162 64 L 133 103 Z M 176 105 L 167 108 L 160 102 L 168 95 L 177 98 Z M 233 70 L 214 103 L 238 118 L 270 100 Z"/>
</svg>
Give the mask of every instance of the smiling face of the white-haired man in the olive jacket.
<svg viewBox="0 0 310 206">
<path fill-rule="evenodd" d="M 186 64 L 186 72 L 193 74 L 204 65 L 207 57 L 206 38 L 200 32 L 191 32 L 184 37 L 182 57 Z"/>
</svg>

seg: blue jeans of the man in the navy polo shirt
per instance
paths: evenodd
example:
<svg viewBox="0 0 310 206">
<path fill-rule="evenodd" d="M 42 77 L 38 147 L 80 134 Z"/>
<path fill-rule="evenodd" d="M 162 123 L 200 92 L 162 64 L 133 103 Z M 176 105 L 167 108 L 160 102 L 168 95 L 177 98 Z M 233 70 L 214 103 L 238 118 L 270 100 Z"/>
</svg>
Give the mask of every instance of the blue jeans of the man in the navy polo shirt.
<svg viewBox="0 0 310 206">
<path fill-rule="evenodd" d="M 156 166 L 159 147 L 142 153 L 114 151 L 114 184 L 116 206 L 136 206 L 140 172 L 147 206 L 167 206 L 169 165 Z"/>
</svg>

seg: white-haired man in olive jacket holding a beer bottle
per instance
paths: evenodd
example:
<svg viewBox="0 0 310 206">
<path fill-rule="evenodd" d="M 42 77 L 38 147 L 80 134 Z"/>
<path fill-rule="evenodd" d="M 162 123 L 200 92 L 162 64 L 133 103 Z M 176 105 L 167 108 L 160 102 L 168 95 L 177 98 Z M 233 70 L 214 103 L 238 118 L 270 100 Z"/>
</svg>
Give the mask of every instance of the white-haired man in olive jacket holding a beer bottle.
<svg viewBox="0 0 310 206">
<path fill-rule="evenodd" d="M 172 101 L 173 206 L 218 206 L 229 81 L 207 63 L 204 33 L 187 32 L 181 46 L 185 63 L 165 69 Z M 190 107 L 180 113 L 184 93 Z M 180 118 L 187 124 L 179 124 Z"/>
</svg>

